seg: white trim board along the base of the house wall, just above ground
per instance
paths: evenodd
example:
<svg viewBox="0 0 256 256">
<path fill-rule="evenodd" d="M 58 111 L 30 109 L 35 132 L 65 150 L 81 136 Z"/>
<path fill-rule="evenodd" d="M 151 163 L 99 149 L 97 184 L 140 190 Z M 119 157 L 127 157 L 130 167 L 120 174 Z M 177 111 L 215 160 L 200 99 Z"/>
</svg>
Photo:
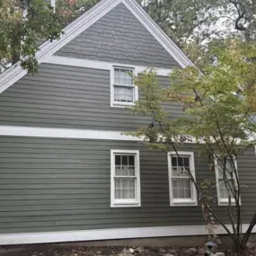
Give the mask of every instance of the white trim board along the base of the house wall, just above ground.
<svg viewBox="0 0 256 256">
<path fill-rule="evenodd" d="M 230 225 L 227 226 L 231 228 Z M 249 225 L 243 225 L 243 231 L 245 231 L 248 228 L 248 226 Z M 255 232 L 256 228 L 254 227 L 253 233 Z M 93 240 L 97 241 L 111 239 L 189 236 L 206 234 L 207 230 L 205 225 L 130 227 L 63 232 L 40 232 L 20 234 L 17 233 L 0 234 L 0 245 L 24 243 L 63 243 Z M 226 234 L 226 232 L 222 226 L 218 226 L 216 228 L 216 234 Z"/>
</svg>

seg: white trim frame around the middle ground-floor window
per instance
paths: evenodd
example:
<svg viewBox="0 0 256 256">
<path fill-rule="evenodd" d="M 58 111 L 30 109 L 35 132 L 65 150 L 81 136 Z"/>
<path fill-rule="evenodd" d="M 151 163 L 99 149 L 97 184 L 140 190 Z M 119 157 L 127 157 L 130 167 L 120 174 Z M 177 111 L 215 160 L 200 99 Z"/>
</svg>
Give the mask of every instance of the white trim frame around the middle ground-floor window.
<svg viewBox="0 0 256 256">
<path fill-rule="evenodd" d="M 195 175 L 195 161 L 194 161 L 194 153 L 187 151 L 178 151 L 179 155 L 189 155 L 190 156 L 190 172 L 196 181 Z M 198 205 L 198 195 L 195 185 L 191 182 L 192 186 L 192 199 L 172 199 L 172 155 L 177 155 L 176 152 L 168 152 L 168 180 L 169 180 L 169 195 L 170 195 L 170 206 L 171 207 L 189 207 L 189 206 L 197 206 Z"/>
</svg>

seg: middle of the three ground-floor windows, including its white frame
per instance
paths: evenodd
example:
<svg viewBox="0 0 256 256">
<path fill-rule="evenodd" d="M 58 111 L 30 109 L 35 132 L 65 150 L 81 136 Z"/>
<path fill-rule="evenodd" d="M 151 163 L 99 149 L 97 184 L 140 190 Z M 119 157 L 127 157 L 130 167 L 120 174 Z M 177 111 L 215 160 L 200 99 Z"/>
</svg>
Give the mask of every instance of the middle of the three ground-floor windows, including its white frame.
<svg viewBox="0 0 256 256">
<path fill-rule="evenodd" d="M 198 204 L 195 185 L 194 154 L 192 152 L 168 153 L 169 188 L 171 206 L 196 206 Z"/>
</svg>

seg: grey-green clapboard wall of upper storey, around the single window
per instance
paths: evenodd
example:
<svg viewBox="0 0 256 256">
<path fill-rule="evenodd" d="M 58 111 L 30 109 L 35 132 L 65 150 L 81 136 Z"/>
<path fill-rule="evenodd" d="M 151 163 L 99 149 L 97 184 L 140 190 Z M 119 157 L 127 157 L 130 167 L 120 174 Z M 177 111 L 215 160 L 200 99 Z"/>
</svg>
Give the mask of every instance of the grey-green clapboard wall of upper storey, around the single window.
<svg viewBox="0 0 256 256">
<path fill-rule="evenodd" d="M 159 79 L 170 83 L 168 77 Z M 178 103 L 166 109 L 172 118 L 182 114 Z M 42 64 L 39 75 L 25 75 L 0 94 L 0 125 L 125 131 L 151 121 L 110 107 L 108 70 Z"/>
</svg>

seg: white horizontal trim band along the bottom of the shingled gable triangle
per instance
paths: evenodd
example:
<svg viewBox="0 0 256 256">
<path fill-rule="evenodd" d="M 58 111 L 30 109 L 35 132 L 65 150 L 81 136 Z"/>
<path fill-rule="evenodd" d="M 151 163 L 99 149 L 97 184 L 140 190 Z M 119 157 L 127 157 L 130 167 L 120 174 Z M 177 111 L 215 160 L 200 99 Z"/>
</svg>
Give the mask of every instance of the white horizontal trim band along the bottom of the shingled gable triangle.
<svg viewBox="0 0 256 256">
<path fill-rule="evenodd" d="M 137 73 L 140 73 L 147 68 L 147 66 L 137 66 L 132 64 L 123 64 L 123 63 L 75 58 L 75 57 L 62 57 L 62 56 L 50 56 L 45 58 L 42 62 L 57 64 L 57 65 L 66 65 L 66 66 L 89 67 L 89 68 L 96 68 L 96 69 L 103 69 L 103 70 L 111 70 L 113 66 L 126 66 L 126 67 L 136 68 Z M 167 76 L 172 72 L 172 69 L 168 69 L 168 68 L 156 68 L 156 70 L 157 70 L 157 75 L 163 75 L 163 76 Z"/>
</svg>

